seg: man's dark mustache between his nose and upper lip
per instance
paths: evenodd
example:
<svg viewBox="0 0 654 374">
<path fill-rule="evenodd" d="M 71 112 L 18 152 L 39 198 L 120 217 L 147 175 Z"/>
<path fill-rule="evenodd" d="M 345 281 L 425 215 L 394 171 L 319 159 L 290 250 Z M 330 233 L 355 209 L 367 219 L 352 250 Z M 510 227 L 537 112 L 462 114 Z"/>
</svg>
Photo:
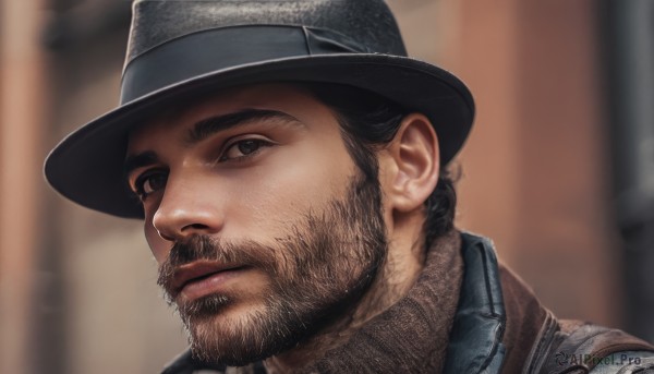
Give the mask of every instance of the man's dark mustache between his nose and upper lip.
<svg viewBox="0 0 654 374">
<path fill-rule="evenodd" d="M 275 266 L 274 254 L 274 249 L 254 241 L 234 243 L 203 234 L 192 236 L 174 243 L 168 258 L 159 266 L 157 285 L 166 292 L 168 303 L 172 303 L 178 292 L 173 286 L 174 274 L 183 265 L 209 261 L 269 270 Z"/>
</svg>

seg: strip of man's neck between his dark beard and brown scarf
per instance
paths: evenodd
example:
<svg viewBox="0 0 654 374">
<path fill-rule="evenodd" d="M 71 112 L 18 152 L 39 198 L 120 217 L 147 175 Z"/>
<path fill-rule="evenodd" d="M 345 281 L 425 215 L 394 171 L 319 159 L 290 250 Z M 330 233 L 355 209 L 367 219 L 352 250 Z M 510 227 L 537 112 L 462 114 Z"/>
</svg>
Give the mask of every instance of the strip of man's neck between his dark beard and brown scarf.
<svg viewBox="0 0 654 374">
<path fill-rule="evenodd" d="M 420 228 L 421 225 L 413 227 Z M 316 361 L 325 352 L 342 346 L 361 326 L 409 292 L 424 265 L 424 240 L 420 231 L 396 230 L 396 233 L 389 241 L 392 244 L 382 268 L 356 306 L 296 348 L 267 359 L 268 373 L 292 373 Z"/>
</svg>

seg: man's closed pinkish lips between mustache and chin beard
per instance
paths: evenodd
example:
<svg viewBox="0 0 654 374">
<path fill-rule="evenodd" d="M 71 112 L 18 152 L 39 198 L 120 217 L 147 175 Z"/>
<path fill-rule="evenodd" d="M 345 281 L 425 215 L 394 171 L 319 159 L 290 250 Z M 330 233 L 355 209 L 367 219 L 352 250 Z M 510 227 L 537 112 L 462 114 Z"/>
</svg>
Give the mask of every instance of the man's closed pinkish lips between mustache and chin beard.
<svg viewBox="0 0 654 374">
<path fill-rule="evenodd" d="M 174 295 L 191 293 L 186 297 L 194 299 L 210 293 L 241 266 L 214 262 L 194 262 L 175 269 L 172 281 Z"/>
</svg>

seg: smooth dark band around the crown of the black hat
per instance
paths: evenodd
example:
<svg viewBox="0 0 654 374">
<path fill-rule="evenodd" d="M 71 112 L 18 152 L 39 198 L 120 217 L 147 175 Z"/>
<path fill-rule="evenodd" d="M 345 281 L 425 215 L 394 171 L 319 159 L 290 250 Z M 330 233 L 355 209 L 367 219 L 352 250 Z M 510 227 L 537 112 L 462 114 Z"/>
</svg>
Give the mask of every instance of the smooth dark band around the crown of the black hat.
<svg viewBox="0 0 654 374">
<path fill-rule="evenodd" d="M 343 52 L 370 51 L 342 34 L 306 26 L 250 25 L 203 31 L 171 39 L 130 61 L 123 72 L 120 102 L 219 70 Z"/>
</svg>

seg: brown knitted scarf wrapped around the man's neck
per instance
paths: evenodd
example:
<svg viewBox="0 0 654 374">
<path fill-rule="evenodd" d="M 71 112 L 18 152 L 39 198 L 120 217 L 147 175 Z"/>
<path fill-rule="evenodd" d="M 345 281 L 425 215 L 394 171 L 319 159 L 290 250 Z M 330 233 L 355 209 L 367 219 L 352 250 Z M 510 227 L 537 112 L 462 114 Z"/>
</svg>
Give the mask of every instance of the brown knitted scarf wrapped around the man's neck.
<svg viewBox="0 0 654 374">
<path fill-rule="evenodd" d="M 416 283 L 397 304 L 302 373 L 439 373 L 463 277 L 457 231 L 437 240 Z"/>
</svg>

